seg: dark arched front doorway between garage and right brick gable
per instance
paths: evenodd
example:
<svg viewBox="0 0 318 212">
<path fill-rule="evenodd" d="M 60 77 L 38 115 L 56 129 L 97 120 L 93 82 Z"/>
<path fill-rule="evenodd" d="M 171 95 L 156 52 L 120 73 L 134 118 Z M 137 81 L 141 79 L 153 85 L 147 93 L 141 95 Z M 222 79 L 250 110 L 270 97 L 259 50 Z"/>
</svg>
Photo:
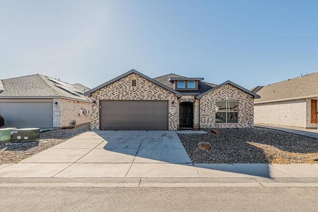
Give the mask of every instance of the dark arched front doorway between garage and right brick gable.
<svg viewBox="0 0 318 212">
<path fill-rule="evenodd" d="M 193 129 L 193 102 L 179 104 L 179 129 Z"/>
</svg>

